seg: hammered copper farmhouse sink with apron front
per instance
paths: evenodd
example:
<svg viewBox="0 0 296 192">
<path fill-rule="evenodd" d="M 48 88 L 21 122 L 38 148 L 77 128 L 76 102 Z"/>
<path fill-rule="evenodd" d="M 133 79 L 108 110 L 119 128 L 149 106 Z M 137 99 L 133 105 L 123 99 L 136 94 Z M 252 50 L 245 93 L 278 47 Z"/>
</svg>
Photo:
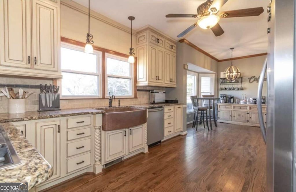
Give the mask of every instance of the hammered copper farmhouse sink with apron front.
<svg viewBox="0 0 296 192">
<path fill-rule="evenodd" d="M 147 122 L 147 110 L 133 107 L 107 108 L 102 118 L 102 129 L 112 131 L 141 125 Z"/>
</svg>

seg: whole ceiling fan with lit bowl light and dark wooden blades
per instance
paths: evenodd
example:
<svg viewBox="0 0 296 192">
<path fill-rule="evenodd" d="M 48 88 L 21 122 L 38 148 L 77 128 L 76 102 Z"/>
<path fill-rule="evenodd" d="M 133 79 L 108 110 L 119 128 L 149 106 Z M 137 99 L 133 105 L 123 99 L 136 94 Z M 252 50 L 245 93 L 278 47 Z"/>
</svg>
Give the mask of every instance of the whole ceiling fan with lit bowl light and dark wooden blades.
<svg viewBox="0 0 296 192">
<path fill-rule="evenodd" d="M 223 29 L 219 25 L 220 18 L 230 18 L 230 17 L 249 17 L 258 16 L 263 13 L 263 7 L 255 7 L 249 9 L 238 9 L 232 11 L 219 12 L 221 7 L 228 0 L 207 0 L 197 7 L 197 14 L 168 14 L 165 17 L 193 17 L 200 18 L 196 23 L 191 25 L 189 28 L 185 29 L 177 37 L 183 37 L 189 31 L 194 29 L 197 25 L 203 29 L 211 29 L 215 36 L 220 36 L 224 33 Z"/>
</svg>

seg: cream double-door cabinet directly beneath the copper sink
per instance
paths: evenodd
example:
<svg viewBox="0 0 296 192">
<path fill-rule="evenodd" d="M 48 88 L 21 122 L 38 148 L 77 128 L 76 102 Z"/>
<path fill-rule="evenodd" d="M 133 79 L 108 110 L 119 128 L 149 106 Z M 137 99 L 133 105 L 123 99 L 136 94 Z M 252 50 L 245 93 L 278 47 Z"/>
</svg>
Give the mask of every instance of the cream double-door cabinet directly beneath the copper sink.
<svg viewBox="0 0 296 192">
<path fill-rule="evenodd" d="M 147 146 L 147 125 L 102 131 L 102 164 L 127 156 Z"/>
</svg>

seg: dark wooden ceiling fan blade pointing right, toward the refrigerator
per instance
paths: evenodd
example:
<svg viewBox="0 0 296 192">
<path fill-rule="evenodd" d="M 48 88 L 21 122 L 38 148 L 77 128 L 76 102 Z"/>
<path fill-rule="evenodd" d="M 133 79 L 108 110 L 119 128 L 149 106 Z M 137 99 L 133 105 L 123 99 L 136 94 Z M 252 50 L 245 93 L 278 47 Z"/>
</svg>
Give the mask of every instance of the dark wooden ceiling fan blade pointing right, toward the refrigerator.
<svg viewBox="0 0 296 192">
<path fill-rule="evenodd" d="M 224 11 L 219 13 L 221 18 L 230 18 L 230 17 L 249 17 L 249 16 L 258 16 L 263 13 L 263 7 L 255 7 L 249 9 L 238 9 L 232 11 Z"/>
</svg>

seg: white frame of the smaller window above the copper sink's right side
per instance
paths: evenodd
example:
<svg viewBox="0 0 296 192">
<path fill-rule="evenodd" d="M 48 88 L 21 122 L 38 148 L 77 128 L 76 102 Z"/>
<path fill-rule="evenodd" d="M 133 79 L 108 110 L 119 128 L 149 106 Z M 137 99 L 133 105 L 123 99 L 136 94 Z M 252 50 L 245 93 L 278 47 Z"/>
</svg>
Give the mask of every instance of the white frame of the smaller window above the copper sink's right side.
<svg viewBox="0 0 296 192">
<path fill-rule="evenodd" d="M 106 98 L 109 97 L 108 77 L 115 77 L 115 78 L 120 78 L 120 79 L 131 79 L 131 95 L 128 95 L 128 96 L 122 96 L 122 95 L 117 96 L 117 95 L 115 95 L 115 97 L 116 98 L 117 97 L 118 98 L 133 98 L 134 97 L 134 74 L 133 74 L 134 65 L 133 65 L 133 63 L 129 63 L 129 65 L 130 65 L 130 76 L 129 77 L 127 77 L 127 76 L 118 76 L 118 75 L 109 75 L 109 74 L 107 74 L 107 59 L 108 58 L 128 62 L 128 58 L 126 58 L 126 57 L 121 57 L 121 56 L 110 54 L 110 53 L 105 54 L 105 97 Z"/>
</svg>

